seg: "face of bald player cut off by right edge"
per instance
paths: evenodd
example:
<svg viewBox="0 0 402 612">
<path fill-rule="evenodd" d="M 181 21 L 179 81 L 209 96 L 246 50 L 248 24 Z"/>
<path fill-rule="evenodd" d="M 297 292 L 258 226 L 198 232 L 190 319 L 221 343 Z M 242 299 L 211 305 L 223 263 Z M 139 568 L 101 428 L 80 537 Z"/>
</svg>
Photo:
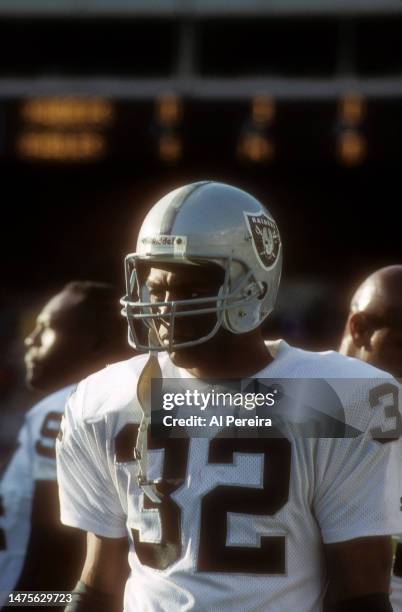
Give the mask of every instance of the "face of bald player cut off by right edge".
<svg viewBox="0 0 402 612">
<path fill-rule="evenodd" d="M 402 328 L 381 327 L 371 336 L 368 361 L 374 366 L 402 378 Z"/>
</svg>

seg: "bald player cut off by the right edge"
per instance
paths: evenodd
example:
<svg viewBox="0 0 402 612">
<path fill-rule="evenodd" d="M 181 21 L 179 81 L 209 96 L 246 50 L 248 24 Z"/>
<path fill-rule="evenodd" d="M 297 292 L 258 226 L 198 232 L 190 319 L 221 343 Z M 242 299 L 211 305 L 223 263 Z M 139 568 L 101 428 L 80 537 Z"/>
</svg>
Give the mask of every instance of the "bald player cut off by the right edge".
<svg viewBox="0 0 402 612">
<path fill-rule="evenodd" d="M 402 377 L 402 266 L 371 274 L 355 292 L 340 352 Z M 402 537 L 397 536 L 391 600 L 402 612 Z"/>
</svg>

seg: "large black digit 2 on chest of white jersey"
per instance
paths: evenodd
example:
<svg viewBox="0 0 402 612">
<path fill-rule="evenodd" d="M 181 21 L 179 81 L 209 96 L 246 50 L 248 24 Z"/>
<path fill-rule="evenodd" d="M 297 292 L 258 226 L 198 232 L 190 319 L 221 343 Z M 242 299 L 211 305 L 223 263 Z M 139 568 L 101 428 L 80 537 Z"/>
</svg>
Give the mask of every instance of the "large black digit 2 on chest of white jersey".
<svg viewBox="0 0 402 612">
<path fill-rule="evenodd" d="M 284 574 L 285 536 L 261 536 L 258 548 L 226 546 L 228 512 L 276 514 L 289 499 L 291 445 L 285 438 L 215 438 L 208 463 L 233 463 L 234 453 L 264 455 L 263 487 L 219 485 L 201 505 L 198 571 Z"/>
</svg>

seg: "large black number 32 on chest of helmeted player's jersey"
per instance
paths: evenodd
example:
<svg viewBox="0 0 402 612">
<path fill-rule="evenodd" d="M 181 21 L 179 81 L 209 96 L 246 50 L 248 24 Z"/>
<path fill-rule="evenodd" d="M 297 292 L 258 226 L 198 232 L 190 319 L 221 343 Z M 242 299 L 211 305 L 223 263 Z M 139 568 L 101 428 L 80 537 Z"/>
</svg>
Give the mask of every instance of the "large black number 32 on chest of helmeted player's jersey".
<svg viewBox="0 0 402 612">
<path fill-rule="evenodd" d="M 115 440 L 116 461 L 132 461 L 138 426 L 126 425 Z M 170 495 L 182 486 L 187 471 L 189 440 L 187 438 L 148 439 L 148 448 L 164 449 L 162 481 L 158 490 L 163 501 L 155 504 L 144 495 L 144 511 L 159 511 L 162 538 L 160 543 L 141 542 L 138 530 L 132 529 L 136 554 L 140 562 L 164 570 L 180 559 L 181 512 Z M 286 572 L 285 536 L 261 536 L 260 547 L 226 546 L 227 515 L 237 512 L 273 516 L 288 501 L 291 444 L 285 438 L 215 438 L 210 442 L 210 464 L 233 463 L 234 453 L 264 456 L 263 487 L 219 485 L 202 499 L 200 544 L 197 569 L 200 572 L 238 572 L 284 574 Z"/>
</svg>

